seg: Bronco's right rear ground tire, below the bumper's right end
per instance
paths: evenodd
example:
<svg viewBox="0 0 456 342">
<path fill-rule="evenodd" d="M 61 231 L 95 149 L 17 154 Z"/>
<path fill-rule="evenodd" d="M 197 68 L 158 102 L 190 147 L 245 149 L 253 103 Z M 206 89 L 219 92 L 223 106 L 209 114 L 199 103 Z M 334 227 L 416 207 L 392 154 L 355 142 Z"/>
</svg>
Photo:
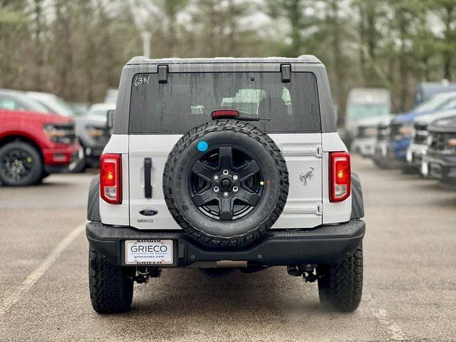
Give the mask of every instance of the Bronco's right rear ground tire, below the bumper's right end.
<svg viewBox="0 0 456 342">
<path fill-rule="evenodd" d="M 320 303 L 328 309 L 354 311 L 363 293 L 363 245 L 340 262 L 319 266 Z"/>
</svg>

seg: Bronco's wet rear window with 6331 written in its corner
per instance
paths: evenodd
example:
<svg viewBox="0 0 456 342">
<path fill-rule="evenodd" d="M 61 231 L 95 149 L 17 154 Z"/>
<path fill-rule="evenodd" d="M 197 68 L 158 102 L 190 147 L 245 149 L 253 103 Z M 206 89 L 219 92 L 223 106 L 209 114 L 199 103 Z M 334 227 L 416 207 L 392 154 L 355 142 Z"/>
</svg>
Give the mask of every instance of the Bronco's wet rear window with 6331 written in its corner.
<svg viewBox="0 0 456 342">
<path fill-rule="evenodd" d="M 320 132 L 314 73 L 157 73 L 133 77 L 130 133 L 185 133 L 211 120 L 217 109 L 236 109 L 268 133 Z"/>
</svg>

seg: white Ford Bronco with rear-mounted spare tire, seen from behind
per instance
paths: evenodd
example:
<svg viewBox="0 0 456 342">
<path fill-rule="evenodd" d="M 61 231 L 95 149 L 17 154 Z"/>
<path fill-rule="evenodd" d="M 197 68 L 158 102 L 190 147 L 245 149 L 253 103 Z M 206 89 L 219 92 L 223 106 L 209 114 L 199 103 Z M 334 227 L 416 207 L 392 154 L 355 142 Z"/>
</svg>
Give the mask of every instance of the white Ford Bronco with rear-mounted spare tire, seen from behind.
<svg viewBox="0 0 456 342">
<path fill-rule="evenodd" d="M 95 311 L 170 267 L 286 266 L 324 306 L 358 307 L 361 185 L 317 58 L 135 57 L 112 126 L 88 195 Z"/>
</svg>

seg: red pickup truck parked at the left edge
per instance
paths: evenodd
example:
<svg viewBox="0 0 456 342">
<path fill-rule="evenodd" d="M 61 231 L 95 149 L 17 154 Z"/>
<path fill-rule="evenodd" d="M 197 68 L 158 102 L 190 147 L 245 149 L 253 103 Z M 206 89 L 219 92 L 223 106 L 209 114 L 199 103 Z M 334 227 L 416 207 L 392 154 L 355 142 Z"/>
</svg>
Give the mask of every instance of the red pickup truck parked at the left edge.
<svg viewBox="0 0 456 342">
<path fill-rule="evenodd" d="M 25 93 L 0 90 L 1 185 L 33 185 L 69 172 L 82 153 L 73 119 L 48 113 Z"/>
</svg>

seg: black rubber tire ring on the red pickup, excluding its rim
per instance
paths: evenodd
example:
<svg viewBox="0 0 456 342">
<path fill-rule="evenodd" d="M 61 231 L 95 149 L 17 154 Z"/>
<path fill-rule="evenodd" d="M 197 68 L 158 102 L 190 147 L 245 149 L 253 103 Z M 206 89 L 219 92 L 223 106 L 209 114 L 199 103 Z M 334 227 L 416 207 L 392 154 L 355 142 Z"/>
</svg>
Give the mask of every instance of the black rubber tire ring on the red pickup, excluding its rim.
<svg viewBox="0 0 456 342">
<path fill-rule="evenodd" d="M 9 142 L 6 145 L 0 147 L 0 162 L 3 161 L 4 155 L 9 150 L 13 149 L 23 150 L 28 153 L 28 155 L 30 155 L 33 160 L 33 168 L 30 170 L 28 175 L 26 175 L 26 177 L 21 180 L 11 180 L 11 178 L 9 178 L 7 175 L 4 175 L 3 171 L 0 170 L 0 184 L 11 187 L 37 184 L 41 180 L 41 175 L 43 173 L 43 161 L 41 160 L 41 155 L 38 150 L 24 141 Z"/>
</svg>

